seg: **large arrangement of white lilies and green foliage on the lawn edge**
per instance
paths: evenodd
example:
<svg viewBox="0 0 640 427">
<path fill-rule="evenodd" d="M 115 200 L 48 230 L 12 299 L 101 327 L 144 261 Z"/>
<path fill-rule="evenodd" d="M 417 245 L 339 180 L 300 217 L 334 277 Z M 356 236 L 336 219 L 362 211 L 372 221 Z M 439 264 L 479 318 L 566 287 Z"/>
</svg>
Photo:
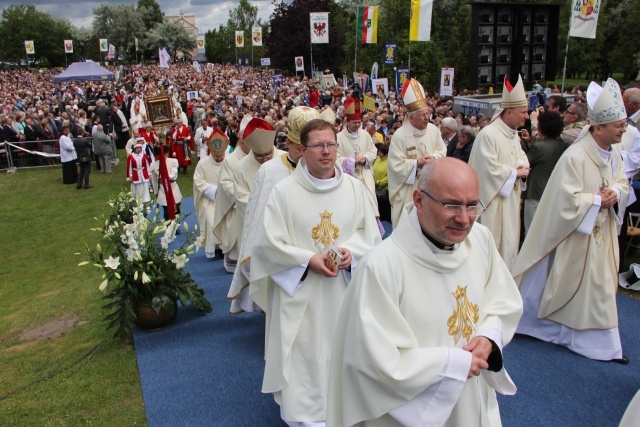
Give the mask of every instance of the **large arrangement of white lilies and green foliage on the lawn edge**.
<svg viewBox="0 0 640 427">
<path fill-rule="evenodd" d="M 136 320 L 134 306 L 138 302 L 149 302 L 156 313 L 173 313 L 176 300 L 183 306 L 191 301 L 201 312 L 211 312 L 204 290 L 185 270 L 189 255 L 203 243 L 203 237 L 196 237 L 197 227 L 189 231 L 184 222 L 185 242 L 169 249 L 176 239 L 179 219 L 164 221 L 159 211 L 146 218 L 144 204 L 131 193 L 121 192 L 109 205 L 113 212 L 106 219 L 103 216 L 103 226 L 91 229 L 102 234 L 103 245 L 98 243 L 94 249 L 86 246 L 91 261 L 78 264 L 93 263 L 102 272 L 99 289 L 109 301 L 103 307 L 109 310 L 107 330 L 115 329 L 114 337 L 126 338 Z"/>
</svg>

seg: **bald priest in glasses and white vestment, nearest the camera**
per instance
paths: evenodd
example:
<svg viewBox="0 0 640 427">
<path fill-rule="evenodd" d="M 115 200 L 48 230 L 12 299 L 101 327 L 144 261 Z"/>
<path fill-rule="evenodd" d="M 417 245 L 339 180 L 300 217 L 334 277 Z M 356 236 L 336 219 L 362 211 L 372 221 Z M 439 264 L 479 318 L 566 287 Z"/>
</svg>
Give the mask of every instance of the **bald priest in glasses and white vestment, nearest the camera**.
<svg viewBox="0 0 640 427">
<path fill-rule="evenodd" d="M 358 265 L 331 360 L 327 426 L 500 426 L 503 348 L 522 300 L 489 230 L 478 178 L 451 157 L 421 171 L 391 236 Z"/>
</svg>

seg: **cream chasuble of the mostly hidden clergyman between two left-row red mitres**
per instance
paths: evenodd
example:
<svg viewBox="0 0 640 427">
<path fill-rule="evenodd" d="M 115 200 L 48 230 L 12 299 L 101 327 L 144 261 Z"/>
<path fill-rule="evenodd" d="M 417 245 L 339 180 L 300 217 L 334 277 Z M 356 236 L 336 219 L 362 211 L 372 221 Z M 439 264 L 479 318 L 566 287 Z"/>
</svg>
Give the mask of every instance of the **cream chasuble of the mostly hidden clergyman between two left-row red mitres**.
<svg viewBox="0 0 640 427">
<path fill-rule="evenodd" d="M 239 225 L 236 216 L 235 183 L 233 171 L 240 160 L 246 155 L 240 149 L 236 149 L 225 156 L 220 171 L 218 194 L 216 196 L 216 208 L 213 217 L 213 234 L 220 240 L 220 249 L 229 254 L 231 259 L 238 259 L 237 240 Z"/>
</svg>

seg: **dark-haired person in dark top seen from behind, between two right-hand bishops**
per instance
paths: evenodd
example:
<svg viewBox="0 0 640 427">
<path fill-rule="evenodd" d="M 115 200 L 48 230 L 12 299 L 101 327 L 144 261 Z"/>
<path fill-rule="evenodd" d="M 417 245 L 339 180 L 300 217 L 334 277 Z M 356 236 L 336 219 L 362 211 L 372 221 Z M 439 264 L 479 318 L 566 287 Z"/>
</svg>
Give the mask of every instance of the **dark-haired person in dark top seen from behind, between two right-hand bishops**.
<svg viewBox="0 0 640 427">
<path fill-rule="evenodd" d="M 529 232 L 531 221 L 547 186 L 547 181 L 567 145 L 560 139 L 564 123 L 555 111 L 543 111 L 538 117 L 538 138 L 527 152 L 531 173 L 524 194 L 524 230 Z"/>
</svg>

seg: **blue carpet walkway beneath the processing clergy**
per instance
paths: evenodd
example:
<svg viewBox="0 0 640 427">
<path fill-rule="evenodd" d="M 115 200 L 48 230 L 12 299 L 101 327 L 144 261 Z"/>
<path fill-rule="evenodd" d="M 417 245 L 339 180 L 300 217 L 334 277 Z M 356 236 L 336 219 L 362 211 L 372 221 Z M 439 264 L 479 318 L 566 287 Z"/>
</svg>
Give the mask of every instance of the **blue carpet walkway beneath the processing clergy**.
<svg viewBox="0 0 640 427">
<path fill-rule="evenodd" d="M 193 199 L 183 199 L 183 208 L 192 212 Z M 187 222 L 195 224 L 193 215 Z M 229 315 L 231 275 L 222 259 L 201 250 L 187 267 L 214 312 L 180 307 L 171 326 L 134 331 L 149 426 L 284 426 L 273 398 L 260 392 L 264 316 Z M 618 310 L 627 366 L 516 336 L 505 360 L 518 394 L 498 395 L 504 426 L 618 425 L 640 389 L 640 301 L 618 296 Z"/>
</svg>

